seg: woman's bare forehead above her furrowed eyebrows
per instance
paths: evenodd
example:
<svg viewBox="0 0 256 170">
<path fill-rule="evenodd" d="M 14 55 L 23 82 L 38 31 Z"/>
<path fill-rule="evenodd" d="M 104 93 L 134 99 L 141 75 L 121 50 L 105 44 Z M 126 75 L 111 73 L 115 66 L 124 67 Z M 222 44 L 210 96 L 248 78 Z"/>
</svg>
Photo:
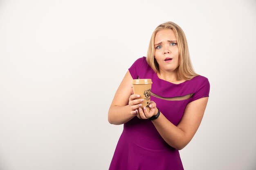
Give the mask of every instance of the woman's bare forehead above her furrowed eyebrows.
<svg viewBox="0 0 256 170">
<path fill-rule="evenodd" d="M 171 29 L 162 29 L 155 35 L 155 43 L 170 40 L 176 41 L 176 36 Z"/>
</svg>

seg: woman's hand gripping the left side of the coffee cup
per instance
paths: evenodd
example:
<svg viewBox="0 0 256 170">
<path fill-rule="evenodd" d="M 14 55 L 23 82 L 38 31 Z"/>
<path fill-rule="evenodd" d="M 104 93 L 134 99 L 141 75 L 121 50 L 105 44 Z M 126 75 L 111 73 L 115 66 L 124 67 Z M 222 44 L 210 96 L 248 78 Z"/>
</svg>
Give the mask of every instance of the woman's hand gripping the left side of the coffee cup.
<svg viewBox="0 0 256 170">
<path fill-rule="evenodd" d="M 132 94 L 130 95 L 129 98 L 129 103 L 128 105 L 130 106 L 131 109 L 131 114 L 136 116 L 136 113 L 139 113 L 139 107 L 141 107 L 141 102 L 143 102 L 144 99 L 139 99 L 138 94 Z M 139 114 L 137 114 L 138 118 L 140 118 Z M 141 119 L 141 118 L 140 118 Z"/>
</svg>

